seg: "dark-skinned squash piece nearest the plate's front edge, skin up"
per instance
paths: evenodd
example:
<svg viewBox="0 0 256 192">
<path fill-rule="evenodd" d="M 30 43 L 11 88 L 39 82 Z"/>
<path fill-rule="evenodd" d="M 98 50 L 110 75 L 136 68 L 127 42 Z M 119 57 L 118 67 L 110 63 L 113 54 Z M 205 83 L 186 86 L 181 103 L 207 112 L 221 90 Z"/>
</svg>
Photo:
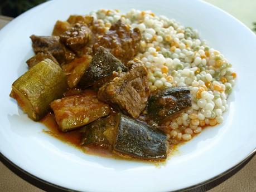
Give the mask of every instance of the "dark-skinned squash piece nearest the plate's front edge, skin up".
<svg viewBox="0 0 256 192">
<path fill-rule="evenodd" d="M 114 151 L 139 159 L 166 159 L 167 137 L 154 127 L 121 116 Z"/>
</svg>

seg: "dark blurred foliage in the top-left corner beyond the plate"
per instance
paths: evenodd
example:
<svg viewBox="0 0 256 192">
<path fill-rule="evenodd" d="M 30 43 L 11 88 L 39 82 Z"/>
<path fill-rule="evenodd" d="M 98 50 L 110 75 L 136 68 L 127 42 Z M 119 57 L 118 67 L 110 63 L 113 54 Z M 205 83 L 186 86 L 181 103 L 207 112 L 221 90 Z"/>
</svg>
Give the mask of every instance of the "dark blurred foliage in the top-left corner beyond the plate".
<svg viewBox="0 0 256 192">
<path fill-rule="evenodd" d="M 37 6 L 46 0 L 1 0 L 0 14 L 9 17 L 17 17 L 21 13 L 32 7 Z"/>
</svg>

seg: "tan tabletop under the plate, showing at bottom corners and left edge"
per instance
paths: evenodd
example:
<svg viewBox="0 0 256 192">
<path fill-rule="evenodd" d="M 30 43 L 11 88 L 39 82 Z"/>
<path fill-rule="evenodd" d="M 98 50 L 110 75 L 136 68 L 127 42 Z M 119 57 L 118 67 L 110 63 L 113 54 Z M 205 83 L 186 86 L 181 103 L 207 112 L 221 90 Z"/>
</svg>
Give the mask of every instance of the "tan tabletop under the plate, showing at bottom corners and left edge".
<svg viewBox="0 0 256 192">
<path fill-rule="evenodd" d="M 11 21 L 12 18 L 0 16 L 0 28 Z M 256 20 L 256 19 L 255 19 Z M 0 163 L 0 191 L 19 191 L 19 192 L 42 192 L 43 190 L 38 189 L 21 179 L 12 171 L 6 168 Z M 204 189 L 200 190 L 204 191 Z M 244 166 L 243 169 L 238 171 L 235 175 L 231 176 L 228 180 L 224 181 L 215 188 L 209 190 L 209 192 L 255 192 L 256 191 L 256 156 L 253 157 L 250 162 Z"/>
</svg>

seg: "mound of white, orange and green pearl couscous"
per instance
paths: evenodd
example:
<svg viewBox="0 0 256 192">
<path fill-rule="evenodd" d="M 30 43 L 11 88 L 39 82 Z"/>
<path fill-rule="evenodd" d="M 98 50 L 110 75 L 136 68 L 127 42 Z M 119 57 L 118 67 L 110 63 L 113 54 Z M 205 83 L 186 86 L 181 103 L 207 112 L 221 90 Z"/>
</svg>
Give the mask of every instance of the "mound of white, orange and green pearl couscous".
<svg viewBox="0 0 256 192">
<path fill-rule="evenodd" d="M 236 73 L 219 51 L 199 38 L 195 29 L 151 11 L 132 9 L 122 14 L 100 9 L 90 14 L 107 29 L 119 19 L 139 28 L 142 40 L 136 58 L 147 67 L 151 92 L 174 86 L 190 88 L 192 107 L 165 124 L 171 144 L 189 141 L 204 127 L 223 122 Z"/>
</svg>

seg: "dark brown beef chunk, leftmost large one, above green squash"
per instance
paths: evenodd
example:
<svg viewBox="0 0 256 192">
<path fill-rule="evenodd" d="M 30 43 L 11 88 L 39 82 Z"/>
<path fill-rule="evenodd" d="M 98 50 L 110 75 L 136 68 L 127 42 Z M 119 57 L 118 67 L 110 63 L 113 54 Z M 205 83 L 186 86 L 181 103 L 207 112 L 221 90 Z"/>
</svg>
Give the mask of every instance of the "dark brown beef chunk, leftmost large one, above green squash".
<svg viewBox="0 0 256 192">
<path fill-rule="evenodd" d="M 59 63 L 71 61 L 75 54 L 68 50 L 61 42 L 59 36 L 30 36 L 35 53 L 51 53 Z"/>
</svg>

